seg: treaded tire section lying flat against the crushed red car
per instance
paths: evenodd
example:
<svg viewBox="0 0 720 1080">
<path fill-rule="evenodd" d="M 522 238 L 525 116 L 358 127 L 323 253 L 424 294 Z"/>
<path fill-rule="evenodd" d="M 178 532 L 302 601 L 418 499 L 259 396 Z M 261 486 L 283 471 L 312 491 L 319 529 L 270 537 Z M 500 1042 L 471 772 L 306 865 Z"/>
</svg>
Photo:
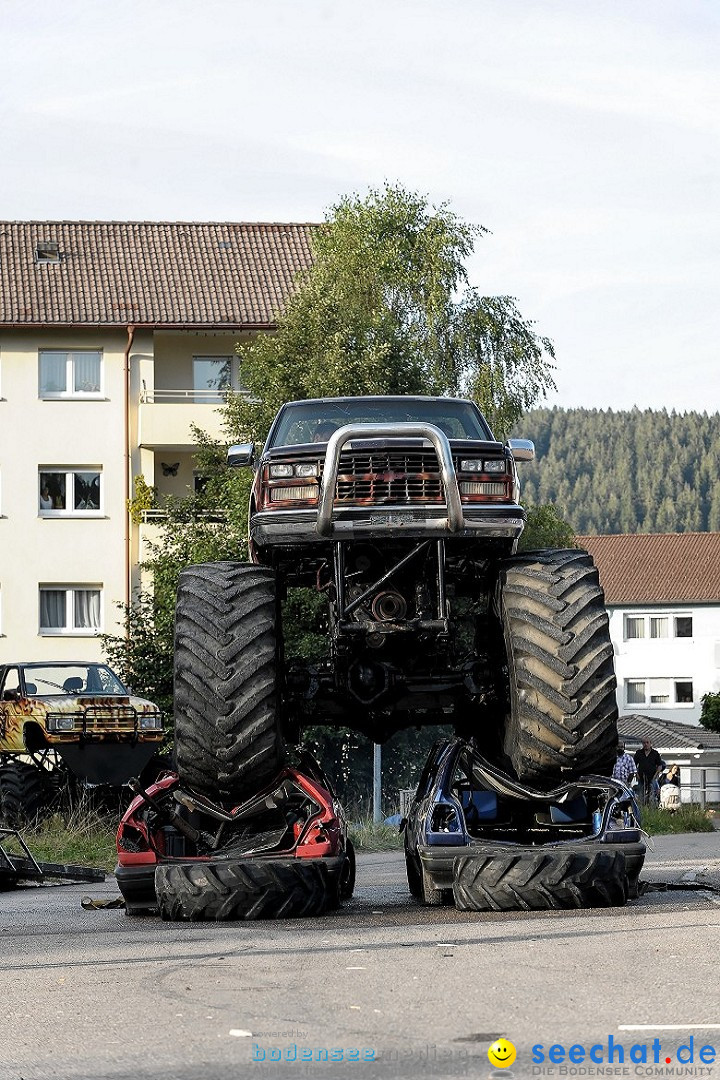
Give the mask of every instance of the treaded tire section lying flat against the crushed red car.
<svg viewBox="0 0 720 1080">
<path fill-rule="evenodd" d="M 158 908 L 163 919 L 176 921 L 323 915 L 331 906 L 332 891 L 321 859 L 236 859 L 155 867 Z"/>
</svg>

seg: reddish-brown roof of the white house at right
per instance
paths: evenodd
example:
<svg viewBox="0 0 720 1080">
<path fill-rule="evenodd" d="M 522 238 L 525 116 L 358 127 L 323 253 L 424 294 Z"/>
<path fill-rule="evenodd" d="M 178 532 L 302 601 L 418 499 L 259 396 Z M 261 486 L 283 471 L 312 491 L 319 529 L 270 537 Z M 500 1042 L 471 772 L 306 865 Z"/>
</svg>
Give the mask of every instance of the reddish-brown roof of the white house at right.
<svg viewBox="0 0 720 1080">
<path fill-rule="evenodd" d="M 600 571 L 606 604 L 720 603 L 720 532 L 578 537 Z"/>
</svg>

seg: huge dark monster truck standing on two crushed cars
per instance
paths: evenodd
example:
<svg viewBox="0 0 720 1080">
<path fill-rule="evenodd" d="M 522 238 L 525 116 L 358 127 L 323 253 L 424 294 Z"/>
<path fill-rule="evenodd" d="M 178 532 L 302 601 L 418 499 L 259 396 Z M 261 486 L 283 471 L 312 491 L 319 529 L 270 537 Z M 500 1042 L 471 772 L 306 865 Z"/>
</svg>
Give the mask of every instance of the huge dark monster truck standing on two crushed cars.
<svg viewBox="0 0 720 1080">
<path fill-rule="evenodd" d="M 525 783 L 603 772 L 615 677 L 598 573 L 580 550 L 516 554 L 516 461 L 470 401 L 290 402 L 252 467 L 249 563 L 190 567 L 176 613 L 181 779 L 236 798 L 310 724 L 376 742 L 451 724 Z M 281 599 L 322 594 L 327 649 L 284 660 Z"/>
</svg>

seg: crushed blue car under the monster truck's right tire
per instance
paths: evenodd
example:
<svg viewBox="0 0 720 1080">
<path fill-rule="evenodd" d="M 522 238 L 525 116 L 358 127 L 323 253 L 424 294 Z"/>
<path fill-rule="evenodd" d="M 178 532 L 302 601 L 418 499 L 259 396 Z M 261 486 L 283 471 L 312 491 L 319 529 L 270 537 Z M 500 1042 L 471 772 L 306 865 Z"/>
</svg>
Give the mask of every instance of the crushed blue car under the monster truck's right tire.
<svg viewBox="0 0 720 1080">
<path fill-rule="evenodd" d="M 646 856 L 629 787 L 585 775 L 520 784 L 463 739 L 437 742 L 404 823 L 408 887 L 463 910 L 610 907 L 638 895 Z"/>
</svg>

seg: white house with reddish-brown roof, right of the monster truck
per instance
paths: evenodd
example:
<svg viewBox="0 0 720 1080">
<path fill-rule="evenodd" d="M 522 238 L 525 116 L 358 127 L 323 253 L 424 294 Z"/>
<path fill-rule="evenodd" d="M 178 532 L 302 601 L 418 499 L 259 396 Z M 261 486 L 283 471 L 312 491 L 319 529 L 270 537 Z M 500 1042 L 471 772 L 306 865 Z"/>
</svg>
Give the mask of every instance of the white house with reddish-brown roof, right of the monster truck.
<svg viewBox="0 0 720 1080">
<path fill-rule="evenodd" d="M 720 690 L 720 532 L 578 537 L 604 590 L 621 718 L 697 724 Z"/>
</svg>

